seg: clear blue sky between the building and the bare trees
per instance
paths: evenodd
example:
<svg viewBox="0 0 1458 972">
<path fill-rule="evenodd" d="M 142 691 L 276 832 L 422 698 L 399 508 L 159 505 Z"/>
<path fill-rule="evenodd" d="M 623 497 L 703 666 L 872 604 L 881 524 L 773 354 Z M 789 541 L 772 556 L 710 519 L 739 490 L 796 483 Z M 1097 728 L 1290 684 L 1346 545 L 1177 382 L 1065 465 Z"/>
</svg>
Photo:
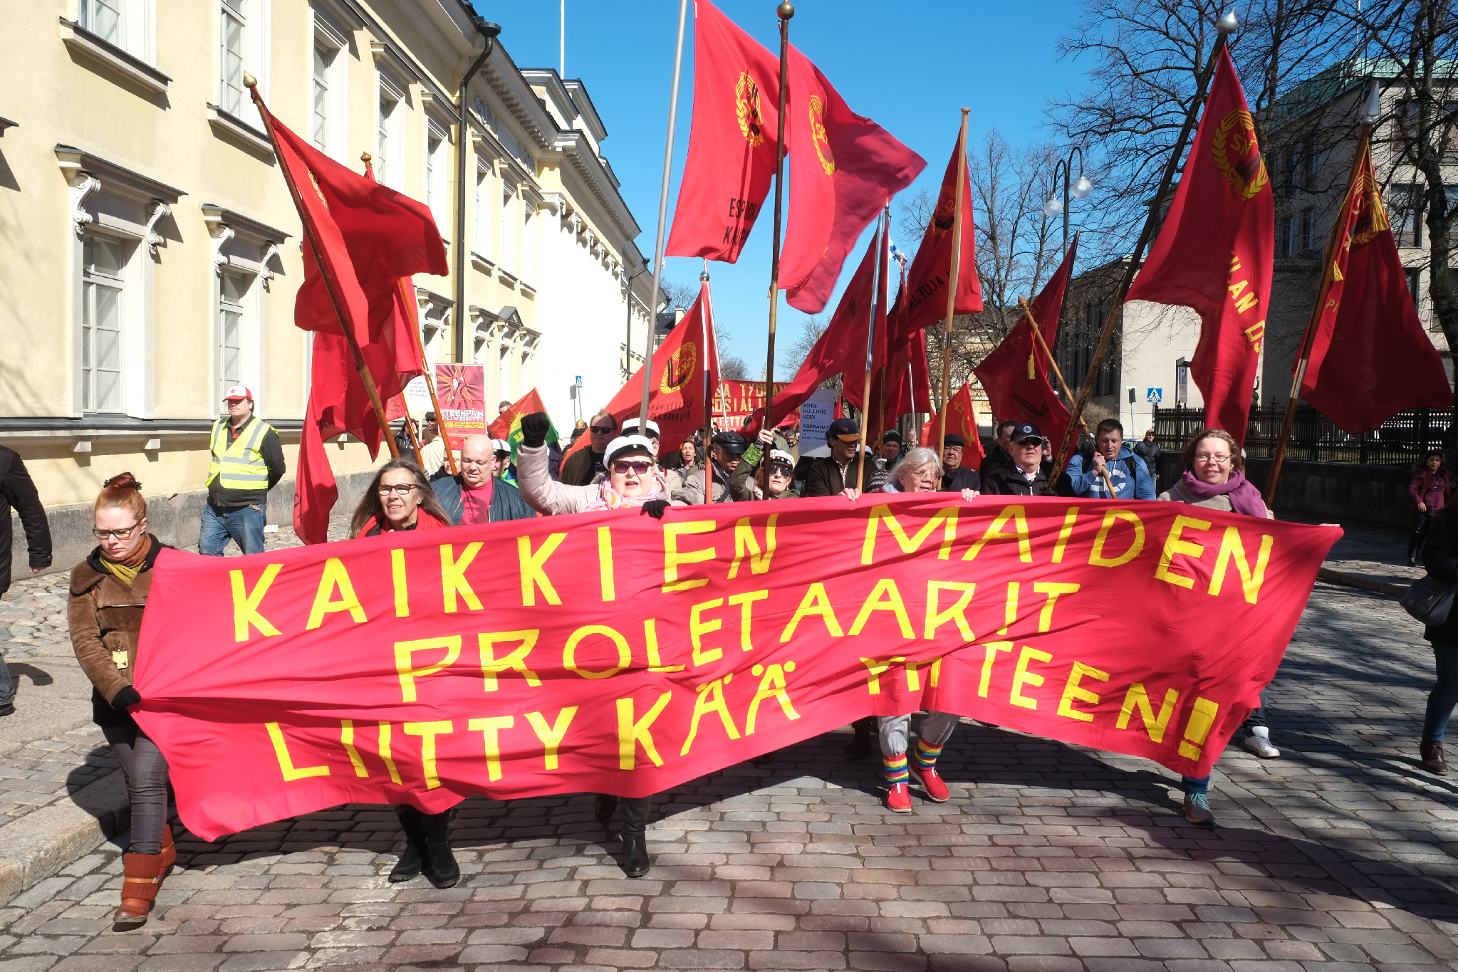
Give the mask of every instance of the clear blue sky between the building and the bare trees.
<svg viewBox="0 0 1458 972">
<path fill-rule="evenodd" d="M 478 0 L 487 20 L 502 25 L 502 42 L 522 67 L 557 67 L 558 3 L 534 0 L 491 4 Z M 779 50 L 774 0 L 720 0 L 719 9 L 771 51 Z M 1056 42 L 1077 17 L 1076 0 L 1035 3 L 948 1 L 900 4 L 863 0 L 796 3 L 790 42 L 815 61 L 856 112 L 873 118 L 927 160 L 903 195 L 935 188 L 956 140 L 959 109 L 971 108 L 968 140 L 990 128 L 1013 144 L 1048 137 L 1044 105 L 1082 86 L 1082 66 L 1056 60 Z M 669 82 L 674 70 L 677 0 L 567 0 L 567 77 L 588 86 L 608 128 L 604 154 L 623 181 L 623 195 L 643 233 L 637 246 L 653 252 Z M 694 103 L 693 0 L 684 38 L 684 73 L 669 192 L 669 220 L 684 172 Z M 892 239 L 895 214 L 892 203 Z M 768 321 L 773 189 L 764 216 L 739 261 L 710 264 L 720 350 L 738 354 L 758 376 L 764 367 Z M 898 240 L 900 242 L 900 240 Z M 905 240 L 916 246 L 919 240 Z M 851 252 L 841 286 L 859 261 Z M 669 258 L 668 278 L 693 284 L 701 262 Z M 840 290 L 827 305 L 834 309 Z M 783 348 L 799 335 L 805 315 L 780 294 Z M 607 322 L 605 322 L 607 324 Z M 621 325 L 614 319 L 614 331 Z M 779 377 L 784 354 L 776 354 Z"/>
</svg>

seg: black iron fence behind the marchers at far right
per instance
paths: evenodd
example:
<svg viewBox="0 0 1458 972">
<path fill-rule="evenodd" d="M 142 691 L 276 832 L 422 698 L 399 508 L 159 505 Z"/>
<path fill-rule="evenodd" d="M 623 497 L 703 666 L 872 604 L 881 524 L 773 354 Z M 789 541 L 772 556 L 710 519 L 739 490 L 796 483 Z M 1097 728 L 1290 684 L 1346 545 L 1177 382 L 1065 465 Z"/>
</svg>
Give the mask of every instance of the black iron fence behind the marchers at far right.
<svg viewBox="0 0 1458 972">
<path fill-rule="evenodd" d="M 1284 405 L 1251 409 L 1245 427 L 1247 458 L 1274 455 L 1284 417 Z M 1420 462 L 1429 449 L 1443 449 L 1452 421 L 1451 408 L 1419 408 L 1392 415 L 1376 431 L 1352 436 L 1337 428 L 1311 405 L 1301 404 L 1296 407 L 1296 418 L 1286 443 L 1286 459 L 1410 466 Z M 1203 408 L 1155 407 L 1155 439 L 1165 449 L 1184 449 L 1201 428 L 1204 428 Z"/>
</svg>

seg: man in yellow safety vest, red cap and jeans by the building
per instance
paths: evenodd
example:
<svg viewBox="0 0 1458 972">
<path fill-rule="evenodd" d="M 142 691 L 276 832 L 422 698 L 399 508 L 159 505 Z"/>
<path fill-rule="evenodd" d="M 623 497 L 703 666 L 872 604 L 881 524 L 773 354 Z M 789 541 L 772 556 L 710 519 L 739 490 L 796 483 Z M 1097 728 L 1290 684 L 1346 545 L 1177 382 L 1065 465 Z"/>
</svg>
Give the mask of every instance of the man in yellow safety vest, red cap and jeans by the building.
<svg viewBox="0 0 1458 972">
<path fill-rule="evenodd" d="M 254 393 L 246 386 L 233 385 L 223 401 L 227 418 L 213 423 L 213 463 L 197 552 L 222 557 L 232 539 L 245 554 L 261 554 L 268 490 L 284 474 L 283 446 L 273 426 L 254 417 Z"/>
</svg>

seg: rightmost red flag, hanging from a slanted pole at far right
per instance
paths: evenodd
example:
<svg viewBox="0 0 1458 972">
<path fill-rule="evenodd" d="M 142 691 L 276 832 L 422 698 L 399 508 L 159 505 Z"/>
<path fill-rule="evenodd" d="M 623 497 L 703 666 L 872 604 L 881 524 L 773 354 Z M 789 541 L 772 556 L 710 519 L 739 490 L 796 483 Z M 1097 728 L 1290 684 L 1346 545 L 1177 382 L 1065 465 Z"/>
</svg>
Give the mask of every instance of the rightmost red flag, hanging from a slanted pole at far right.
<svg viewBox="0 0 1458 972">
<path fill-rule="evenodd" d="M 1407 408 L 1446 408 L 1452 389 L 1423 332 L 1363 144 L 1347 187 L 1331 289 L 1301 396 L 1359 436 Z"/>
</svg>

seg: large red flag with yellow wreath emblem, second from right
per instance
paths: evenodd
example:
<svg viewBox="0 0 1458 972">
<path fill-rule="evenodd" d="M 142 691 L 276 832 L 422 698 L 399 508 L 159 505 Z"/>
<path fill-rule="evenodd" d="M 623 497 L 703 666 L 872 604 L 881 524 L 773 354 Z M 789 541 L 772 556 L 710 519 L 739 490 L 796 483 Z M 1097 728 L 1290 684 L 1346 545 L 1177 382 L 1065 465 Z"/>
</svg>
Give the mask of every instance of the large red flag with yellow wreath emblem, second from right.
<svg viewBox="0 0 1458 972">
<path fill-rule="evenodd" d="M 1200 315 L 1190 373 L 1204 395 L 1204 423 L 1238 443 L 1266 335 L 1274 252 L 1276 208 L 1255 121 L 1229 51 L 1220 51 L 1174 205 L 1124 300 L 1184 305 Z"/>
</svg>

